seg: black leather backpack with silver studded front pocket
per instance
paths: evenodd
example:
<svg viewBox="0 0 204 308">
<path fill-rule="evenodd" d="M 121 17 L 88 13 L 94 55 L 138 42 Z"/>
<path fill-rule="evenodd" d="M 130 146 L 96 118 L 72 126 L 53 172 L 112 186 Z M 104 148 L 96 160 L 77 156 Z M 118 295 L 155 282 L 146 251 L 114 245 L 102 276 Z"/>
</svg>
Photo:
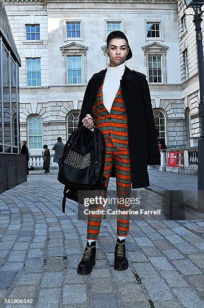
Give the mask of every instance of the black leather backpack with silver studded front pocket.
<svg viewBox="0 0 204 308">
<path fill-rule="evenodd" d="M 104 135 L 94 126 L 75 129 L 65 144 L 58 181 L 65 185 L 62 211 L 66 197 L 77 201 L 77 190 L 103 189 L 105 164 Z"/>
</svg>

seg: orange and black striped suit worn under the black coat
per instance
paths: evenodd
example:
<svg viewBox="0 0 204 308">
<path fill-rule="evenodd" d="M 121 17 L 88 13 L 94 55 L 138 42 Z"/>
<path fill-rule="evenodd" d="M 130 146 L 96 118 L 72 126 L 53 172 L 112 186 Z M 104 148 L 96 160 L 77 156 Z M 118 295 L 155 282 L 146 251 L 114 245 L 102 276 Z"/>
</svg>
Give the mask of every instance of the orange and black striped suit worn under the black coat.
<svg viewBox="0 0 204 308">
<path fill-rule="evenodd" d="M 104 78 L 105 80 L 105 78 Z M 121 86 L 115 96 L 111 111 L 106 109 L 103 100 L 103 85 L 98 89 L 91 115 L 95 119 L 96 127 L 105 137 L 105 189 L 108 188 L 113 164 L 116 170 L 116 186 L 118 196 L 130 196 L 131 170 L 128 146 L 128 123 L 125 104 L 122 97 Z M 97 209 L 103 209 L 103 205 Z M 123 205 L 118 209 L 125 210 Z M 87 239 L 95 240 L 100 230 L 102 215 L 89 214 L 87 223 Z M 117 215 L 117 235 L 125 237 L 129 234 L 130 215 Z"/>
</svg>

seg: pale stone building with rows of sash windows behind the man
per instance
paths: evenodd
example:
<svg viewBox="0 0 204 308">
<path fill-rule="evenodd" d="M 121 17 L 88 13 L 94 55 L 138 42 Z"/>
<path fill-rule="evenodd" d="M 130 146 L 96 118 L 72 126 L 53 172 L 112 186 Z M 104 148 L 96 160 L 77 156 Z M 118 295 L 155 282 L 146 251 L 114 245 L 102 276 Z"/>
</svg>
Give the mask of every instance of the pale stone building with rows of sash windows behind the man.
<svg viewBox="0 0 204 308">
<path fill-rule="evenodd" d="M 158 137 L 167 146 L 195 142 L 199 119 L 191 76 L 197 76 L 189 62 L 192 93 L 187 102 L 181 15 L 175 0 L 5 4 L 22 62 L 21 138 L 28 140 L 33 155 L 41 153 L 44 143 L 51 148 L 57 136 L 65 142 L 77 126 L 87 82 L 108 63 L 106 37 L 112 30 L 124 31 L 129 39 L 133 58 L 126 65 L 147 75 Z"/>
</svg>

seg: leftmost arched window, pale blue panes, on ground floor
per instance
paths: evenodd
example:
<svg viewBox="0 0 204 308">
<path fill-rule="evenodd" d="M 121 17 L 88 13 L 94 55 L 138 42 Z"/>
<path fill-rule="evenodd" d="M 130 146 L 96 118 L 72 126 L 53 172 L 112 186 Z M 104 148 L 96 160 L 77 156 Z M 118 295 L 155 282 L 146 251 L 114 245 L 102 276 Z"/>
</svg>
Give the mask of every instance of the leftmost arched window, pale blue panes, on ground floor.
<svg viewBox="0 0 204 308">
<path fill-rule="evenodd" d="M 31 116 L 28 120 L 28 140 L 30 149 L 42 149 L 42 120 L 38 115 Z"/>
</svg>

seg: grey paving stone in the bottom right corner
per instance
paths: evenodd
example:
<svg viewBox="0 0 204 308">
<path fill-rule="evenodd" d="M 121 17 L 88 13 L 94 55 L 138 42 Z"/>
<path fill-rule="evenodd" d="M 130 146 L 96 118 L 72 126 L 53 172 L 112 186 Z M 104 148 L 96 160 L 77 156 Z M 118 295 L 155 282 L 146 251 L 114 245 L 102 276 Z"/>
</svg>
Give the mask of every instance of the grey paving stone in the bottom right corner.
<svg viewBox="0 0 204 308">
<path fill-rule="evenodd" d="M 204 301 L 190 288 L 175 288 L 173 291 L 185 308 L 200 308 L 204 305 Z"/>
</svg>

